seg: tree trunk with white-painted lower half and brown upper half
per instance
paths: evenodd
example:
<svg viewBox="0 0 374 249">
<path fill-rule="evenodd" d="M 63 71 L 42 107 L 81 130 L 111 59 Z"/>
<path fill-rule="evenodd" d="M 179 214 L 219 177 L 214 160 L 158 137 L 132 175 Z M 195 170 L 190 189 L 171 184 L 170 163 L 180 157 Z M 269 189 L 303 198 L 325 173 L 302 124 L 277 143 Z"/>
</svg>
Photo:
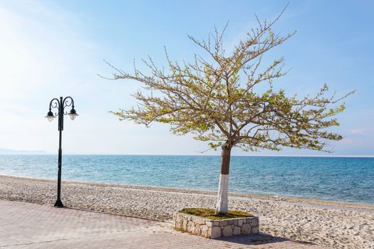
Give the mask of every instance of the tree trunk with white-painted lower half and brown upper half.
<svg viewBox="0 0 374 249">
<path fill-rule="evenodd" d="M 221 175 L 219 177 L 216 214 L 226 215 L 229 211 L 229 169 L 231 148 L 222 146 Z"/>
</svg>

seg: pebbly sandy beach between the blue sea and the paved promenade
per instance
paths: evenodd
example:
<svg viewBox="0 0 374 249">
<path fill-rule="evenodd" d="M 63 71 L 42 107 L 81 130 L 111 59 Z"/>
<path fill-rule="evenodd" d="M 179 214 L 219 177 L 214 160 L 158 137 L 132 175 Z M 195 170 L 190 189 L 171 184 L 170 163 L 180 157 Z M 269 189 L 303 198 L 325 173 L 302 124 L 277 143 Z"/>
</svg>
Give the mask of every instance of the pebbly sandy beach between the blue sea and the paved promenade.
<svg viewBox="0 0 374 249">
<path fill-rule="evenodd" d="M 53 205 L 56 181 L 0 176 L 0 199 Z M 216 196 L 212 191 L 63 181 L 62 201 L 71 208 L 167 221 L 181 208 L 214 208 Z M 331 248 L 374 248 L 371 205 L 230 194 L 229 207 L 259 216 L 262 233 Z"/>
</svg>

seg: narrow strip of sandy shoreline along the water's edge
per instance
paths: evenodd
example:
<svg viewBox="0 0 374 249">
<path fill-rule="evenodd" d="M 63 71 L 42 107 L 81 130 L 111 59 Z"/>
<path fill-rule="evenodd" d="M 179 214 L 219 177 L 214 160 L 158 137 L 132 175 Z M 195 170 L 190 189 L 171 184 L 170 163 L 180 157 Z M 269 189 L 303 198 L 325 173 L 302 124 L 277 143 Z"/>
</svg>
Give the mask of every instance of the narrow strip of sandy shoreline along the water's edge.
<svg viewBox="0 0 374 249">
<path fill-rule="evenodd" d="M 25 176 L 10 176 L 10 175 L 3 175 L 0 174 L 0 177 L 9 177 L 10 179 L 21 179 L 21 180 L 33 180 L 33 181 L 46 181 L 46 182 L 54 182 L 56 180 L 52 179 L 39 179 L 33 177 L 25 177 Z M 70 180 L 63 180 L 61 183 L 68 183 L 68 184 L 83 184 L 88 186 L 104 186 L 104 187 L 115 187 L 115 188 L 123 188 L 123 189 L 142 189 L 142 190 L 150 190 L 150 191 L 164 191 L 164 192 L 172 192 L 172 193 L 181 193 L 181 194 L 207 194 L 216 196 L 217 191 L 209 191 L 209 190 L 202 190 L 202 189 L 178 189 L 178 188 L 171 188 L 171 187 L 163 187 L 163 186 L 137 186 L 137 185 L 128 185 L 128 184 L 105 184 L 105 183 L 98 183 L 98 182 L 89 182 L 89 181 L 70 181 Z M 318 198 L 302 198 L 302 197 L 294 197 L 294 196 L 277 196 L 277 195 L 267 195 L 267 194 L 250 194 L 250 193 L 232 193 L 229 192 L 229 196 L 235 197 L 244 197 L 244 198 L 254 198 L 259 200 L 266 200 L 266 201 L 284 201 L 286 203 L 305 203 L 317 206 L 331 206 L 331 207 L 341 207 L 341 208 L 354 208 L 354 209 L 366 209 L 368 211 L 374 212 L 374 204 L 368 203 L 359 203 L 359 202 L 350 202 L 350 201 L 329 201 L 329 200 L 322 200 Z"/>
</svg>

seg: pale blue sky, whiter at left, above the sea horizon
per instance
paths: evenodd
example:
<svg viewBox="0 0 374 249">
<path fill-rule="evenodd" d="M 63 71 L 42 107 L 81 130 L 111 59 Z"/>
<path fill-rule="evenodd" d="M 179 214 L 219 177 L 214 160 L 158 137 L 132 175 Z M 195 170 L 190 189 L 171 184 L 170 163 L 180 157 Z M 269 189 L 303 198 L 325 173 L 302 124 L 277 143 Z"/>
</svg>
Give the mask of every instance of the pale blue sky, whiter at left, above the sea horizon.
<svg viewBox="0 0 374 249">
<path fill-rule="evenodd" d="M 150 55 L 162 66 L 165 46 L 172 60 L 188 61 L 203 51 L 187 35 L 207 38 L 227 22 L 229 51 L 256 27 L 254 14 L 271 20 L 288 2 L 274 31 L 297 33 L 264 62 L 285 56 L 290 72 L 274 85 L 289 94 L 318 92 L 323 83 L 337 95 L 356 90 L 331 129 L 343 139 L 331 142 L 332 154 L 232 154 L 374 156 L 373 1 L 0 0 L 0 148 L 57 152 L 57 122 L 44 117 L 53 97 L 71 96 L 80 116 L 64 122 L 63 153 L 201 154 L 207 142 L 175 136 L 167 124 L 146 128 L 110 114 L 136 105 L 131 94 L 142 85 L 98 77 L 113 73 L 103 60 L 131 71 Z"/>
</svg>

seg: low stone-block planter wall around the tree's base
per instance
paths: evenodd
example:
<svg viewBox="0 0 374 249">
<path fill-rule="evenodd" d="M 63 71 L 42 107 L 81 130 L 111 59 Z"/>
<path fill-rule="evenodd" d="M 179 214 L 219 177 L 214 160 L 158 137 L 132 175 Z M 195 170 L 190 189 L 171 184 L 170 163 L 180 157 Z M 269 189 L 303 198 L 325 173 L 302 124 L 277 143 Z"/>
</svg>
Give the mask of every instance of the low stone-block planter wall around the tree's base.
<svg viewBox="0 0 374 249">
<path fill-rule="evenodd" d="M 186 213 L 175 212 L 172 227 L 177 231 L 205 238 L 259 233 L 259 217 L 210 220 Z"/>
</svg>

